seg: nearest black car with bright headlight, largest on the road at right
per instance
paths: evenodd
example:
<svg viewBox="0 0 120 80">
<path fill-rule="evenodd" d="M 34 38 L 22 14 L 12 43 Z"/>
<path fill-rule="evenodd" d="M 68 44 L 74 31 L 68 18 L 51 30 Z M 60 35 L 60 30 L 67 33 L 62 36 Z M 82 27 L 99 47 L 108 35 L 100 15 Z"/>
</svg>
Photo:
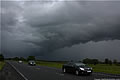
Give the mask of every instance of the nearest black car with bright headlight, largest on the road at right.
<svg viewBox="0 0 120 80">
<path fill-rule="evenodd" d="M 63 72 L 73 72 L 76 75 L 79 74 L 87 74 L 90 75 L 93 70 L 91 67 L 88 67 L 86 64 L 78 63 L 78 62 L 69 62 L 64 64 L 62 67 Z"/>
</svg>

